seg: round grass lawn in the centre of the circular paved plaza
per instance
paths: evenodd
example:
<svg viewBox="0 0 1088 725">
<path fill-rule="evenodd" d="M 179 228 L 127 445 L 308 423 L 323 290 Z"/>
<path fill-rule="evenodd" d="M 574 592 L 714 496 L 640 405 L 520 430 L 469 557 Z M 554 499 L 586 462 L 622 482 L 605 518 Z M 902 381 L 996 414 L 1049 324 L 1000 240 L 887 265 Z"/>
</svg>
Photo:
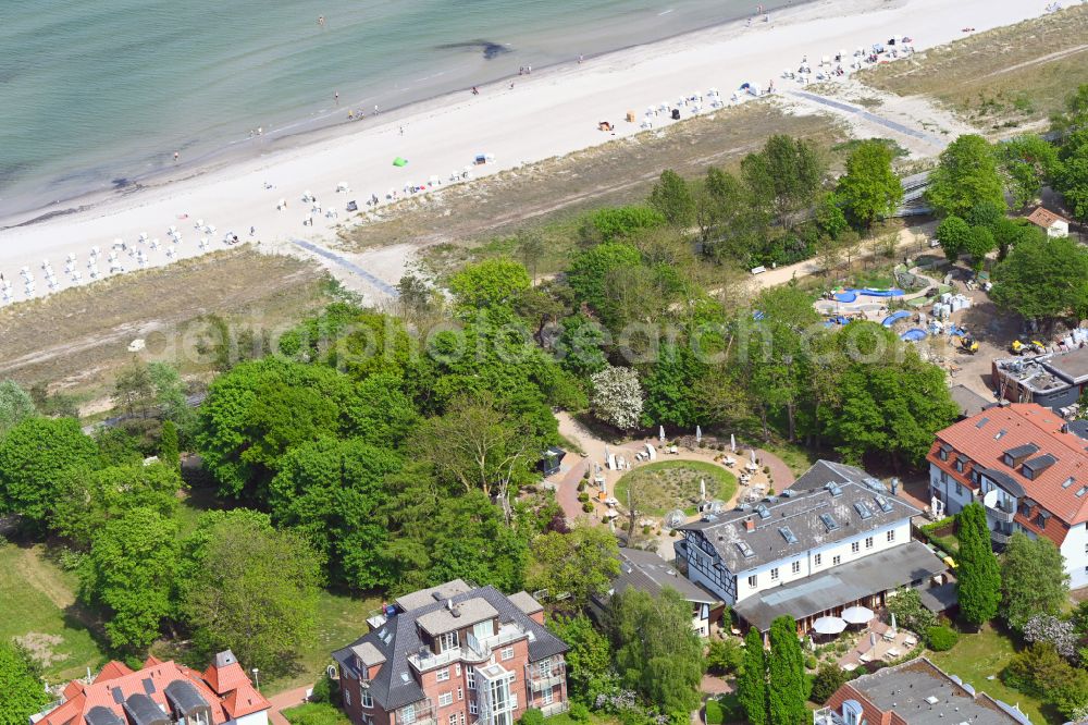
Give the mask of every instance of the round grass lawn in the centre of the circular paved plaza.
<svg viewBox="0 0 1088 725">
<path fill-rule="evenodd" d="M 706 497 L 729 501 L 737 491 L 732 474 L 702 460 L 660 460 L 635 468 L 616 483 L 616 497 L 627 504 L 631 491 L 634 507 L 651 516 L 683 508 L 689 516 L 698 505 L 698 482 L 706 481 Z"/>
</svg>

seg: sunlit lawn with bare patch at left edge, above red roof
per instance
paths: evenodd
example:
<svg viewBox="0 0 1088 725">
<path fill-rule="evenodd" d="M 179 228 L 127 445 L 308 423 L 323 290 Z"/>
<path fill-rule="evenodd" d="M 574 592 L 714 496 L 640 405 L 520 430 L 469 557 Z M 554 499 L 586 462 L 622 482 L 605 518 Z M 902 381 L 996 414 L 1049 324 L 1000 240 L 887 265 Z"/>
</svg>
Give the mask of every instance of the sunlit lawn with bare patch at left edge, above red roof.
<svg viewBox="0 0 1088 725">
<path fill-rule="evenodd" d="M 75 576 L 50 562 L 40 544 L 0 542 L 0 639 L 20 638 L 53 684 L 98 669 L 108 658 L 75 604 Z"/>
</svg>

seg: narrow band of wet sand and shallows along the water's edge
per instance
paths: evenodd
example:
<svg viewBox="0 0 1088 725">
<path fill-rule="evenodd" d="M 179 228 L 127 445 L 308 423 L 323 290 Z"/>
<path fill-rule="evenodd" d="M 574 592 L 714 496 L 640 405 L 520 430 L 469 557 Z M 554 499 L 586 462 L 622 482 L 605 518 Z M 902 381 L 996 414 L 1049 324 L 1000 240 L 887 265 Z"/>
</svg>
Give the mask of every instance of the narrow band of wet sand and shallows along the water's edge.
<svg viewBox="0 0 1088 725">
<path fill-rule="evenodd" d="M 775 8 L 768 8 L 768 11 L 776 13 L 788 12 L 819 1 L 820 0 L 771 0 L 771 2 L 782 2 L 783 4 Z M 585 62 L 590 62 L 616 53 L 623 53 L 652 47 L 658 44 L 666 44 L 687 36 L 693 36 L 724 26 L 741 23 L 744 22 L 746 17 L 754 17 L 754 15 L 744 14 L 737 15 L 734 17 L 722 17 L 710 23 L 703 23 L 701 25 L 671 33 L 652 40 L 630 42 L 592 53 L 585 53 L 583 54 L 583 58 Z M 572 56 L 571 58 L 562 61 L 546 63 L 539 66 L 539 71 L 534 74 L 534 76 L 544 75 L 556 69 L 566 67 L 568 64 L 577 62 L 578 56 Z M 511 73 L 498 75 L 496 77 L 487 77 L 491 79 L 478 83 L 477 86 L 481 89 L 492 86 L 498 87 L 502 84 L 509 83 L 518 78 L 520 78 L 521 82 L 529 82 L 531 76 L 519 76 Z M 410 115 L 415 110 L 421 109 L 429 103 L 453 99 L 461 94 L 470 93 L 472 87 L 473 86 L 471 85 L 463 87 L 458 86 L 432 93 L 419 98 L 408 97 L 407 100 L 398 101 L 390 106 L 387 110 L 383 109 L 380 115 L 385 116 L 387 114 L 395 113 L 408 113 Z M 344 115 L 348 110 L 363 103 L 369 103 L 376 98 L 379 98 L 379 96 L 371 95 L 361 100 L 355 100 L 351 102 L 345 101 L 342 107 L 335 107 L 333 109 L 317 109 L 309 116 L 299 115 L 293 119 L 285 119 L 282 120 L 280 127 L 270 128 L 267 134 L 261 136 L 250 136 L 248 138 L 239 137 L 233 140 L 223 139 L 214 148 L 202 151 L 194 159 L 186 159 L 180 164 L 166 165 L 161 169 L 118 176 L 115 181 L 127 182 L 124 185 L 118 185 L 116 183 L 111 186 L 102 185 L 99 188 L 88 189 L 74 196 L 38 204 L 30 208 L 16 209 L 14 211 L 0 213 L 0 232 L 5 229 L 14 229 L 37 223 L 38 221 L 45 221 L 54 216 L 85 211 L 87 210 L 87 207 L 94 204 L 100 204 L 103 200 L 118 198 L 124 196 L 125 194 L 139 193 L 149 188 L 161 187 L 169 183 L 185 181 L 187 179 L 214 171 L 224 164 L 257 159 L 269 153 L 275 153 L 283 148 L 295 148 L 304 144 L 318 144 L 322 140 L 335 138 L 338 134 L 348 134 L 349 132 L 347 128 L 353 128 L 355 133 L 360 133 L 373 126 L 372 122 L 374 121 L 374 116 L 367 114 L 362 119 L 349 120 L 344 118 Z M 284 144 L 287 146 L 284 146 Z M 119 171 L 118 173 L 121 172 Z"/>
</svg>

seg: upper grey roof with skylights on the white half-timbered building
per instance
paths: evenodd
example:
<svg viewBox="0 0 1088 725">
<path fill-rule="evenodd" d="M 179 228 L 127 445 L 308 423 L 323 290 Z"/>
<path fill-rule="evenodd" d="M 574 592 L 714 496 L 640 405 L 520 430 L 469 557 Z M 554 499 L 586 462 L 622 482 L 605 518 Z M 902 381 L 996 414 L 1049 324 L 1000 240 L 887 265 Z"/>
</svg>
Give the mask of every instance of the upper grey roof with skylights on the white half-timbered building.
<svg viewBox="0 0 1088 725">
<path fill-rule="evenodd" d="M 839 490 L 839 495 L 824 489 L 794 492 L 792 496 L 783 494 L 761 504 L 765 517 L 754 509 L 731 511 L 679 528 L 700 532 L 726 567 L 739 574 L 922 513 L 902 499 L 878 493 L 865 484 L 843 482 Z M 880 502 L 888 511 L 883 511 Z M 867 513 L 864 518 L 858 507 Z M 832 528 L 821 518 L 828 515 Z M 751 531 L 746 529 L 747 521 L 754 524 Z M 788 540 L 787 533 L 792 539 Z"/>
</svg>

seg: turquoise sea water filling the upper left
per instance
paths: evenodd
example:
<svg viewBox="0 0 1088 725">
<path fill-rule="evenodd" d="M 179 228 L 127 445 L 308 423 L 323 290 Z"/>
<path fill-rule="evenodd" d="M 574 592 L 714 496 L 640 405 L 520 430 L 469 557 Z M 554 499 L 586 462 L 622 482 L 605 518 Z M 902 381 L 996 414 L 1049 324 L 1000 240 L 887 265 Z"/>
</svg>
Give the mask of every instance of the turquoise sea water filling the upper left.
<svg viewBox="0 0 1088 725">
<path fill-rule="evenodd" d="M 766 2 L 768 8 L 787 2 Z M 750 0 L 0 1 L 0 216 L 754 12 Z M 324 24 L 319 24 L 319 16 Z M 338 107 L 334 94 L 339 94 Z M 366 123 L 366 121 L 363 121 Z M 264 137 L 250 139 L 262 127 Z"/>
</svg>

